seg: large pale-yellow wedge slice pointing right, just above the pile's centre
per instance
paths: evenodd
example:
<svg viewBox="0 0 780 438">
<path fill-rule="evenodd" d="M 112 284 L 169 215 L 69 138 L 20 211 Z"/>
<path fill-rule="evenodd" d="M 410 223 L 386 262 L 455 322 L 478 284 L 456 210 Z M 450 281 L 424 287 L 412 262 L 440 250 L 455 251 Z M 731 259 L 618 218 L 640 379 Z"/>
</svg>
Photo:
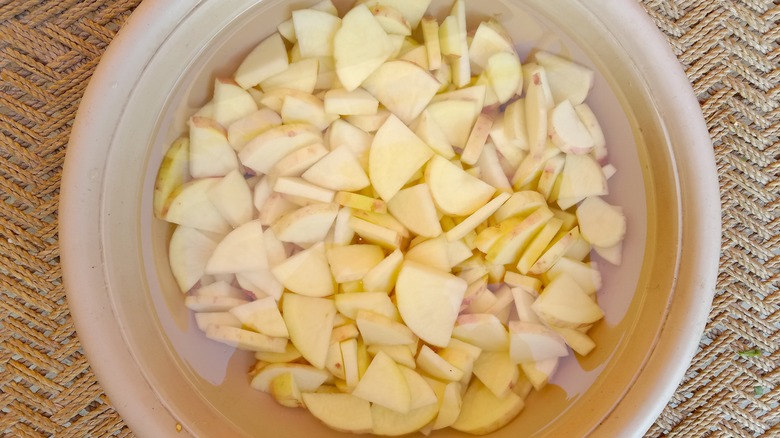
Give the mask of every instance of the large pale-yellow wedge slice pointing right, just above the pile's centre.
<svg viewBox="0 0 780 438">
<path fill-rule="evenodd" d="M 374 136 L 368 157 L 374 189 L 389 201 L 433 155 L 419 137 L 391 115 Z"/>
</svg>

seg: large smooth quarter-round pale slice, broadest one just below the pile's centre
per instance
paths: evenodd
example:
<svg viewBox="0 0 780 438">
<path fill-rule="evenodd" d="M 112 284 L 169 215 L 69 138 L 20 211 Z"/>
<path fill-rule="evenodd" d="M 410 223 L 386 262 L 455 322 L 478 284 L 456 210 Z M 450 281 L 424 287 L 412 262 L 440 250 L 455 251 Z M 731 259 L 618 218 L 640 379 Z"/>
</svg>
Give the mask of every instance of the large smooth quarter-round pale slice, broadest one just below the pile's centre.
<svg viewBox="0 0 780 438">
<path fill-rule="evenodd" d="M 467 286 L 448 272 L 405 261 L 395 286 L 398 311 L 422 340 L 446 347 Z"/>
</svg>

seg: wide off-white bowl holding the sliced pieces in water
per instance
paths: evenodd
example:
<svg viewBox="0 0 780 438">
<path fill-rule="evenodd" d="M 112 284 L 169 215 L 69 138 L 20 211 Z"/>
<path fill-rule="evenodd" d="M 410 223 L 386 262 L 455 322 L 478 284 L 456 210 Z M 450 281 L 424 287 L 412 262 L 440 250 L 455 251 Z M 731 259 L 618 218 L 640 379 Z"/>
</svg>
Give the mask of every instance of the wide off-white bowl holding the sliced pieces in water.
<svg viewBox="0 0 780 438">
<path fill-rule="evenodd" d="M 339 435 L 249 389 L 251 354 L 195 328 L 167 267 L 169 227 L 151 213 L 165 148 L 205 103 L 213 78 L 307 3 L 147 0 L 79 108 L 60 203 L 68 302 L 99 381 L 141 436 Z M 433 9 L 447 3 L 435 0 Z M 495 436 L 641 435 L 681 379 L 714 290 L 718 185 L 698 103 L 634 0 L 467 5 L 470 21 L 502 21 L 521 55 L 541 46 L 599 72 L 589 103 L 618 168 L 609 199 L 629 224 L 623 266 L 601 263 L 606 318 L 591 332 L 598 348 L 568 359 Z"/>
</svg>

